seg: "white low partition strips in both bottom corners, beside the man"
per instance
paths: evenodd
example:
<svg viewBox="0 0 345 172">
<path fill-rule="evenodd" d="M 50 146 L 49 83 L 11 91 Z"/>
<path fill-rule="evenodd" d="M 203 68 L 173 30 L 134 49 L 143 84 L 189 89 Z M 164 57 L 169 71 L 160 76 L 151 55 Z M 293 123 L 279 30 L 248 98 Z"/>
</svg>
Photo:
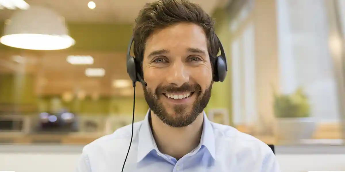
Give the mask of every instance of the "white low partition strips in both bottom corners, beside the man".
<svg viewBox="0 0 345 172">
<path fill-rule="evenodd" d="M 0 153 L 0 171 L 74 172 L 79 153 Z M 282 172 L 345 171 L 345 154 L 278 154 Z"/>
</svg>

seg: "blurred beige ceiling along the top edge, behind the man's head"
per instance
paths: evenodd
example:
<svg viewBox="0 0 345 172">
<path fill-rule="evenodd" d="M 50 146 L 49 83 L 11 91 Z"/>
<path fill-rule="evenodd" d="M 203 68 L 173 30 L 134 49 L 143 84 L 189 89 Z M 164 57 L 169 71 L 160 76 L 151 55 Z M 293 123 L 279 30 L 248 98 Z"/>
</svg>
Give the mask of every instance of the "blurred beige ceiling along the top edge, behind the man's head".
<svg viewBox="0 0 345 172">
<path fill-rule="evenodd" d="M 155 0 L 93 0 L 96 8 L 91 10 L 87 3 L 90 0 L 25 0 L 29 5 L 50 7 L 70 22 L 134 22 L 139 10 L 145 3 Z M 200 4 L 207 13 L 228 0 L 191 0 Z M 10 18 L 14 10 L 0 10 L 0 20 Z"/>
</svg>

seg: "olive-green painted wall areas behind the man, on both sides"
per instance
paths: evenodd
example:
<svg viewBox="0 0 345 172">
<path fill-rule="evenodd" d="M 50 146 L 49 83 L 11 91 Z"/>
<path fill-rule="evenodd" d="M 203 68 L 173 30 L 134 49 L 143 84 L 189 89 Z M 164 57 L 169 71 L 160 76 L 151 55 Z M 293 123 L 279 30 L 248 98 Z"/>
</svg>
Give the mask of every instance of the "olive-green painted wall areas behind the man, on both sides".
<svg viewBox="0 0 345 172">
<path fill-rule="evenodd" d="M 231 114 L 231 69 L 229 50 L 229 19 L 224 9 L 217 9 L 213 14 L 216 19 L 216 33 L 220 38 L 225 53 L 228 55 L 228 74 L 223 83 L 215 83 L 210 103 L 206 112 L 213 108 L 225 108 Z M 3 24 L 2 24 L 3 25 Z M 125 52 L 132 33 L 131 24 L 87 24 L 68 23 L 70 35 L 76 40 L 76 44 L 68 50 L 59 51 L 101 51 L 101 52 Z M 0 33 L 2 33 L 0 28 Z M 0 44 L 0 51 L 28 51 L 8 47 Z M 0 103 L 14 103 L 13 93 L 16 89 L 15 77 L 12 75 L 0 75 Z M 51 97 L 38 98 L 34 95 L 34 82 L 31 76 L 25 76 L 24 86 L 19 103 L 31 103 L 49 109 Z M 30 79 L 31 78 L 31 79 Z M 37 101 L 38 100 L 38 101 Z M 38 103 L 37 103 L 38 102 Z M 85 99 L 74 100 L 70 103 L 62 103 L 71 110 L 82 113 L 107 114 L 111 112 L 131 114 L 132 97 L 100 98 L 97 101 Z M 148 106 L 144 98 L 136 98 L 136 114 L 146 113 Z M 231 117 L 230 117 L 231 119 Z M 231 121 L 230 121 L 231 123 Z"/>
</svg>

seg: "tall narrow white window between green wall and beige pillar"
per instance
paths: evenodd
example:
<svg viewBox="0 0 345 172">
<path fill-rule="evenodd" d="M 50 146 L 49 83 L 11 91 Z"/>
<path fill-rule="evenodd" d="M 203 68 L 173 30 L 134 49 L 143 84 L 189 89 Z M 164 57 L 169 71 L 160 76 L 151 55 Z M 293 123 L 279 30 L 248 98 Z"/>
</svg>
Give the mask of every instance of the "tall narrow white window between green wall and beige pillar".
<svg viewBox="0 0 345 172">
<path fill-rule="evenodd" d="M 234 125 L 254 125 L 257 121 L 255 84 L 255 28 L 250 20 L 254 1 L 239 10 L 230 24 L 231 71 Z"/>
</svg>

